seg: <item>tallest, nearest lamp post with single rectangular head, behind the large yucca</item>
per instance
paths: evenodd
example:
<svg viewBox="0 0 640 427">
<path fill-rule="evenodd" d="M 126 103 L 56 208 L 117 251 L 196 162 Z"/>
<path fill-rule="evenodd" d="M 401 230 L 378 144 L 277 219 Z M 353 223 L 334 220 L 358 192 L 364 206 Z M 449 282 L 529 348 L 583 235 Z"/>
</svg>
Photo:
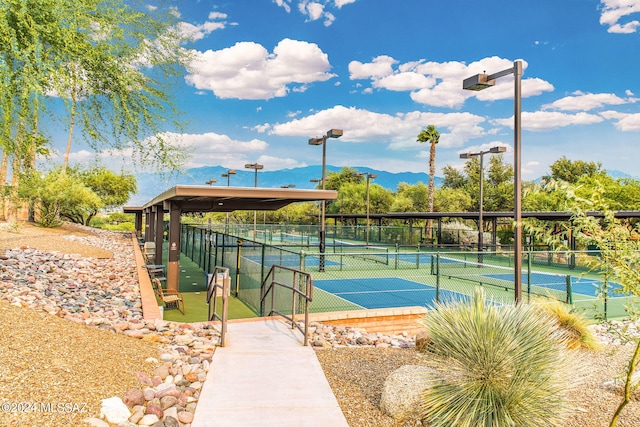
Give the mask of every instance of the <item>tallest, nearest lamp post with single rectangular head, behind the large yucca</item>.
<svg viewBox="0 0 640 427">
<path fill-rule="evenodd" d="M 464 79 L 462 88 L 466 90 L 483 90 L 495 84 L 495 80 L 513 74 L 513 244 L 514 244 L 514 293 L 515 303 L 522 301 L 522 184 L 521 180 L 521 115 L 522 115 L 522 61 L 515 61 L 513 67 L 497 73 L 476 74 Z"/>
</svg>

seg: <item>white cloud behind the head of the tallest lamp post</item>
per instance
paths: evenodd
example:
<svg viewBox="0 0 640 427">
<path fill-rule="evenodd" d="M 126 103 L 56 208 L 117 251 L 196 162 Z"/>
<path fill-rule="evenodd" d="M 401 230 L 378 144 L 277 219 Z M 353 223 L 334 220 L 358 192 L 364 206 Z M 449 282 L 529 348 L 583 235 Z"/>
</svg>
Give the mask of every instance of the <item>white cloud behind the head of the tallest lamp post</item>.
<svg viewBox="0 0 640 427">
<path fill-rule="evenodd" d="M 513 98 L 513 77 L 499 79 L 490 90 L 471 92 L 462 89 L 462 81 L 474 74 L 495 73 L 513 67 L 513 61 L 489 57 L 469 65 L 463 62 L 411 61 L 398 64 L 390 56 L 378 56 L 370 63 L 352 61 L 352 80 L 370 79 L 371 86 L 393 91 L 408 91 L 413 101 L 434 107 L 460 108 L 465 100 L 476 97 L 482 101 Z M 527 63 L 523 61 L 523 68 Z M 489 70 L 489 71 L 487 71 Z M 539 78 L 522 80 L 522 97 L 553 91 L 553 85 Z"/>
</svg>

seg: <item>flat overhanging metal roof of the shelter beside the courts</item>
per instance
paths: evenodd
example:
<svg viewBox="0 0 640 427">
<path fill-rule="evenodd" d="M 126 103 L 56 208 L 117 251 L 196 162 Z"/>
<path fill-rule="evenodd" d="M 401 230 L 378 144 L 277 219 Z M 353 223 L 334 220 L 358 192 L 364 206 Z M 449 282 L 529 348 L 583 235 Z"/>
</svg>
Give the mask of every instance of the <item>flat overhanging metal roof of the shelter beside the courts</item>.
<svg viewBox="0 0 640 427">
<path fill-rule="evenodd" d="M 151 206 L 174 202 L 183 213 L 232 212 L 236 210 L 270 211 L 290 203 L 335 200 L 333 190 L 302 190 L 295 188 L 215 187 L 176 185 L 141 207 L 125 206 L 125 213 L 135 213 Z"/>
</svg>

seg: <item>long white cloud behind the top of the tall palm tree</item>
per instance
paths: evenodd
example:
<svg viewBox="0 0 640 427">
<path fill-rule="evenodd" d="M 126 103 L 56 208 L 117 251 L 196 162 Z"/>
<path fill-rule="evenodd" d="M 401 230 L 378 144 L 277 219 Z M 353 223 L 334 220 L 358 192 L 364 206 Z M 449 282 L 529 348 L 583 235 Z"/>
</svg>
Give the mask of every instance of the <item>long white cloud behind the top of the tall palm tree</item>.
<svg viewBox="0 0 640 427">
<path fill-rule="evenodd" d="M 483 134 L 479 123 L 484 118 L 471 113 L 425 113 L 414 111 L 395 116 L 373 111 L 344 107 L 318 111 L 300 119 L 272 125 L 269 133 L 283 136 L 319 137 L 327 129 L 344 131 L 340 139 L 353 143 L 382 143 L 392 150 L 419 149 L 416 136 L 430 123 L 440 130 L 443 147 L 462 145 L 470 138 Z"/>
</svg>

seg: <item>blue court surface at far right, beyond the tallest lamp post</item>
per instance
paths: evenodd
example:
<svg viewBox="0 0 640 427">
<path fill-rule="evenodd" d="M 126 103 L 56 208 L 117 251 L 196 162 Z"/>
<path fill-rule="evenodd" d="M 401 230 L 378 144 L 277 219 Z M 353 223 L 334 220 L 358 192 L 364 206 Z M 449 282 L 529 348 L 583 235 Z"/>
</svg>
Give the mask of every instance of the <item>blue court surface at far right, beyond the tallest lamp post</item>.
<svg viewBox="0 0 640 427">
<path fill-rule="evenodd" d="M 487 274 L 486 277 L 494 279 L 504 280 L 506 282 L 513 283 L 513 274 Z M 529 280 L 529 277 L 531 280 Z M 567 282 L 566 275 L 562 274 L 549 274 L 549 273 L 536 273 L 532 272 L 530 275 L 522 274 L 522 284 L 531 286 L 538 286 L 541 288 L 553 289 L 556 291 L 566 292 Z M 581 294 L 589 297 L 597 297 L 600 288 L 600 281 L 595 279 L 586 279 L 584 277 L 571 276 L 571 293 Z M 617 283 L 609 283 L 609 297 L 616 298 L 618 296 L 623 297 L 623 294 L 614 292 L 616 289 L 622 289 Z"/>
</svg>

